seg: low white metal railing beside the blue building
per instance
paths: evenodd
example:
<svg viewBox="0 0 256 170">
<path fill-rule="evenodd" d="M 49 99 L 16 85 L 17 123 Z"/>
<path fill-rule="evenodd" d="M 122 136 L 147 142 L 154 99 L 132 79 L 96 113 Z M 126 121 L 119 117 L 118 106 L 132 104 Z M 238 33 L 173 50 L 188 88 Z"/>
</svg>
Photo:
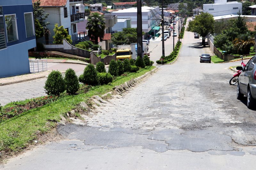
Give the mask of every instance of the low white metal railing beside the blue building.
<svg viewBox="0 0 256 170">
<path fill-rule="evenodd" d="M 30 73 L 47 71 L 47 59 L 29 60 Z"/>
</svg>

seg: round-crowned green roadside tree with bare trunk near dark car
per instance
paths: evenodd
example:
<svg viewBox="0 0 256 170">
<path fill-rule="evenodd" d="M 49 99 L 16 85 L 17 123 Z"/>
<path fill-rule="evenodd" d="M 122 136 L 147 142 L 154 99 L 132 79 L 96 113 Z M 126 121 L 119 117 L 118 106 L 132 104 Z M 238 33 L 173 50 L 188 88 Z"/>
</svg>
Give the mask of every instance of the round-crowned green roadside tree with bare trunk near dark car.
<svg viewBox="0 0 256 170">
<path fill-rule="evenodd" d="M 193 21 L 189 22 L 187 31 L 196 32 L 203 37 L 202 45 L 205 47 L 205 36 L 214 30 L 214 19 L 212 14 L 201 13 Z"/>
</svg>

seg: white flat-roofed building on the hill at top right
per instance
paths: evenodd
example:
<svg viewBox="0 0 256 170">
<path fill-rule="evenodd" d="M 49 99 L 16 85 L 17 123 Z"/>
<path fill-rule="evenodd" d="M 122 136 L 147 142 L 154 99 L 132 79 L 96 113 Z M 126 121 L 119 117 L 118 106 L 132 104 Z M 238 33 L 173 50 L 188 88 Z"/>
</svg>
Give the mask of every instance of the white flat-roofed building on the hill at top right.
<svg viewBox="0 0 256 170">
<path fill-rule="evenodd" d="M 215 0 L 214 4 L 203 4 L 203 11 L 208 12 L 215 16 L 237 14 L 238 11 L 242 12 L 242 3 L 227 0 Z"/>
</svg>

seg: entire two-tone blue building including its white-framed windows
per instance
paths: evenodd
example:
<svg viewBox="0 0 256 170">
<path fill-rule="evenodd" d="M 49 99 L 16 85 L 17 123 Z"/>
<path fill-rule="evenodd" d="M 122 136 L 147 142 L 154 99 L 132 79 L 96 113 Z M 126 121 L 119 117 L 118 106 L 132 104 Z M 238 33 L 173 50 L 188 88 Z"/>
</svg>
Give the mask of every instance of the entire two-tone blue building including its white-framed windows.
<svg viewBox="0 0 256 170">
<path fill-rule="evenodd" d="M 32 0 L 0 0 L 0 78 L 29 73 L 36 47 Z"/>
</svg>

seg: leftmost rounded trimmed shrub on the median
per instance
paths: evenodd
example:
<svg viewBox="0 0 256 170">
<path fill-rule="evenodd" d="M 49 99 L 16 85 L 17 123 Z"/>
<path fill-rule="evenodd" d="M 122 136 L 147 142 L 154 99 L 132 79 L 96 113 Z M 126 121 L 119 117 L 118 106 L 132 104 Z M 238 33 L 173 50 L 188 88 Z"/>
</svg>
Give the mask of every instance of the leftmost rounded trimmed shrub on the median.
<svg viewBox="0 0 256 170">
<path fill-rule="evenodd" d="M 60 71 L 53 70 L 49 75 L 44 85 L 45 92 L 50 95 L 60 95 L 66 90 L 65 81 Z"/>
</svg>

